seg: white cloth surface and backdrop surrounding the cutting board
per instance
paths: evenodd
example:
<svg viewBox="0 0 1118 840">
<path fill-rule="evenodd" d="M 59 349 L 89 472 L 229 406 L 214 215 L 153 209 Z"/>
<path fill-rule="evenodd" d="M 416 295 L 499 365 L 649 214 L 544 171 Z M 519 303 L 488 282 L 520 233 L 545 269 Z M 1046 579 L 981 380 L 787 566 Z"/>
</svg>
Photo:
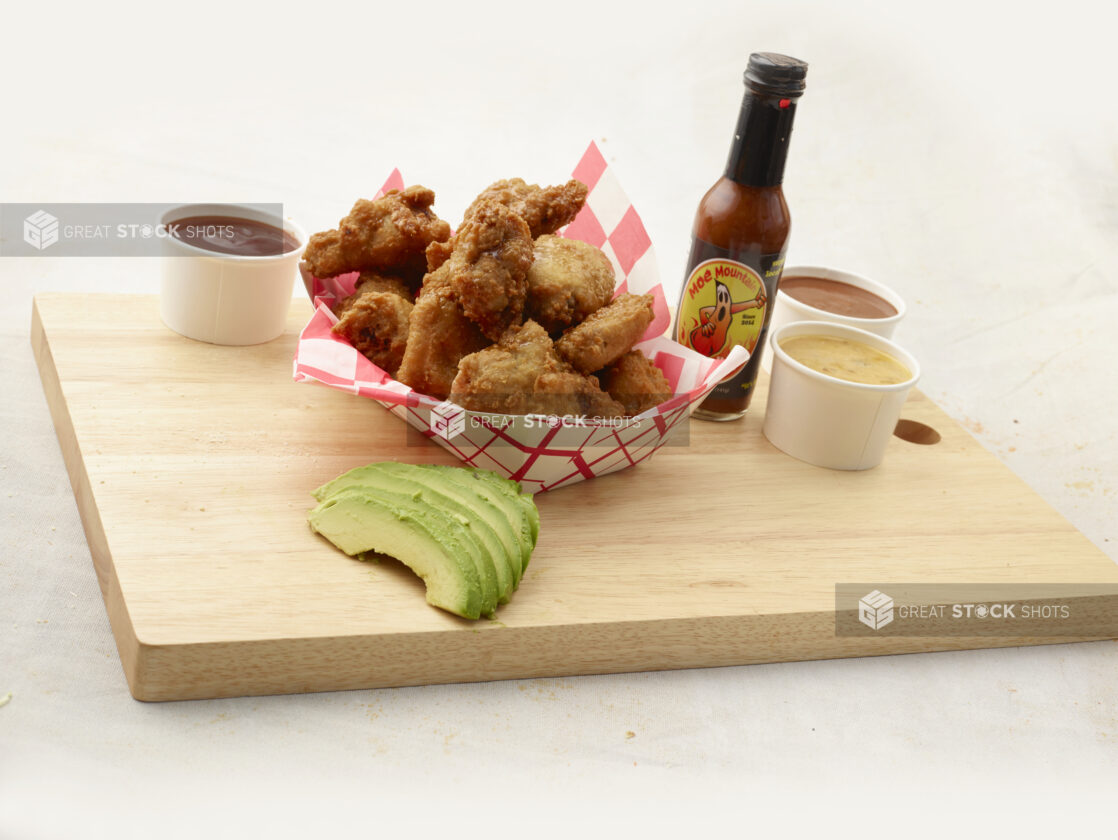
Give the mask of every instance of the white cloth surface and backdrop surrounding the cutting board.
<svg viewBox="0 0 1118 840">
<path fill-rule="evenodd" d="M 789 53 L 811 64 L 789 264 L 897 289 L 921 389 L 1118 559 L 1107 9 L 10 4 L 0 200 L 282 201 L 316 230 L 399 167 L 453 220 L 496 178 L 565 180 L 593 139 L 672 286 L 748 54 Z M 154 293 L 157 268 L 0 258 L 0 838 L 549 834 L 571 820 L 1027 836 L 1112 805 L 1115 642 L 132 700 L 28 324 L 36 292 Z"/>
</svg>

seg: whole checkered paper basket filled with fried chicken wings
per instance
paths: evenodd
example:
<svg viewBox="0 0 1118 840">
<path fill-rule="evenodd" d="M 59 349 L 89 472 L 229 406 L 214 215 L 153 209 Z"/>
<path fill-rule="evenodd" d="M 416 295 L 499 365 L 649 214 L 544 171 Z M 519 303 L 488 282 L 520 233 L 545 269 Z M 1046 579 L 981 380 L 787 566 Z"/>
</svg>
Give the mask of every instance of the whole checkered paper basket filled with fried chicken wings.
<svg viewBox="0 0 1118 840">
<path fill-rule="evenodd" d="M 685 440 L 748 353 L 709 359 L 664 336 L 651 243 L 594 144 L 575 176 L 495 181 L 452 234 L 434 191 L 394 172 L 307 242 L 315 312 L 295 379 L 375 399 L 530 492 Z"/>
</svg>

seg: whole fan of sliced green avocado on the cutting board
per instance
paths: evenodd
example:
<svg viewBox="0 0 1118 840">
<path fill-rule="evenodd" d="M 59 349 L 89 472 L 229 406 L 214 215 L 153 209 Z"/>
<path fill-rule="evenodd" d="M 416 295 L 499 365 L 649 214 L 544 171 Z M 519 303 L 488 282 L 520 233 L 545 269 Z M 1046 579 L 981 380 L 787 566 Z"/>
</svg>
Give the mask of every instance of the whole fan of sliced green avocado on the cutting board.
<svg viewBox="0 0 1118 840">
<path fill-rule="evenodd" d="M 427 603 L 466 619 L 509 603 L 539 536 L 531 494 L 489 470 L 386 461 L 312 494 L 312 530 L 351 556 L 397 558 L 423 578 Z"/>
</svg>

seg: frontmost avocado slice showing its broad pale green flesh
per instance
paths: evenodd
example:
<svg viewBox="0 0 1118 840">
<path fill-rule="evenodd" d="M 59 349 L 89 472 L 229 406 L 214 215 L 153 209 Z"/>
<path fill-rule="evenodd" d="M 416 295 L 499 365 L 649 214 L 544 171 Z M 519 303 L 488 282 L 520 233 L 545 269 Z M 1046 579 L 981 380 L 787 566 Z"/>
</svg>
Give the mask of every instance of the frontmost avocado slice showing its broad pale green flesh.
<svg viewBox="0 0 1118 840">
<path fill-rule="evenodd" d="M 307 521 L 348 555 L 376 551 L 400 560 L 427 585 L 428 604 L 465 619 L 484 611 L 466 527 L 426 502 L 348 488 L 314 508 Z"/>
</svg>

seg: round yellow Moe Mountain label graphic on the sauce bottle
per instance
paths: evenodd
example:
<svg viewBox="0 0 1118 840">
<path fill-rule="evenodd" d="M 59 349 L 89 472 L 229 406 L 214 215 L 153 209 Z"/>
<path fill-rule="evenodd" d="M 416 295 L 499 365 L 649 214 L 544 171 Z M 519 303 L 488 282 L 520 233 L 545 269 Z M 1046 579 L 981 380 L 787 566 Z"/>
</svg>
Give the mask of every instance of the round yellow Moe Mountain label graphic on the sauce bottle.
<svg viewBox="0 0 1118 840">
<path fill-rule="evenodd" d="M 714 359 L 724 358 L 735 345 L 751 353 L 767 305 L 757 272 L 732 259 L 707 259 L 683 286 L 675 340 Z"/>
</svg>

